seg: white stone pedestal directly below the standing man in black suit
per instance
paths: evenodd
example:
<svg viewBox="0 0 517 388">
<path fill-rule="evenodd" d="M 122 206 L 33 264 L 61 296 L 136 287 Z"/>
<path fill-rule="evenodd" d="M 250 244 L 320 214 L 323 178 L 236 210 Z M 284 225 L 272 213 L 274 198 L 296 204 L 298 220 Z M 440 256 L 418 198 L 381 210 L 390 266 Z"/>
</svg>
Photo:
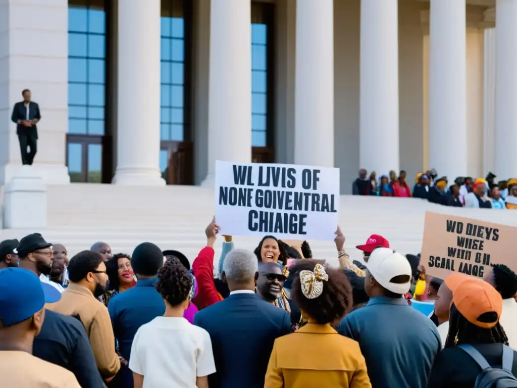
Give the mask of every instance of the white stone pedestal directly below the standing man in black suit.
<svg viewBox="0 0 517 388">
<path fill-rule="evenodd" d="M 22 166 L 4 189 L 4 228 L 47 227 L 47 185 L 33 166 Z"/>
</svg>

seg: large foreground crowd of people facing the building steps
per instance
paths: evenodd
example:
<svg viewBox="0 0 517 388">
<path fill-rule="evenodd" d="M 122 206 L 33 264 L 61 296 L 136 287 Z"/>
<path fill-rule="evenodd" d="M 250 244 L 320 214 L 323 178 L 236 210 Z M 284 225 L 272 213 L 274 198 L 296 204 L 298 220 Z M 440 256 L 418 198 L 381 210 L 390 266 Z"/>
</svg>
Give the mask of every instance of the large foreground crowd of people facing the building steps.
<svg viewBox="0 0 517 388">
<path fill-rule="evenodd" d="M 192 265 L 148 242 L 70 259 L 37 233 L 0 243 L 0 385 L 517 387 L 506 265 L 438 279 L 376 234 L 352 261 L 338 227 L 337 268 L 307 242 L 267 235 L 249 251 L 226 235 L 214 271 L 218 231 Z"/>
</svg>

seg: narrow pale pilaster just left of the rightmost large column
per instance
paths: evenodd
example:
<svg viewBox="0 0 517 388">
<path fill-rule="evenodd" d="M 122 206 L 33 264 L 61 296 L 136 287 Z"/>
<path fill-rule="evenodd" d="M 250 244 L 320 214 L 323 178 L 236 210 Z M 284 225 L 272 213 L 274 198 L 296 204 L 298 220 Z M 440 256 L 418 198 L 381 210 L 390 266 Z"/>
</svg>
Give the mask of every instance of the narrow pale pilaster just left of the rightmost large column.
<svg viewBox="0 0 517 388">
<path fill-rule="evenodd" d="M 495 172 L 495 28 L 485 29 L 483 46 L 483 175 Z M 501 177 L 502 178 L 502 177 Z"/>
</svg>

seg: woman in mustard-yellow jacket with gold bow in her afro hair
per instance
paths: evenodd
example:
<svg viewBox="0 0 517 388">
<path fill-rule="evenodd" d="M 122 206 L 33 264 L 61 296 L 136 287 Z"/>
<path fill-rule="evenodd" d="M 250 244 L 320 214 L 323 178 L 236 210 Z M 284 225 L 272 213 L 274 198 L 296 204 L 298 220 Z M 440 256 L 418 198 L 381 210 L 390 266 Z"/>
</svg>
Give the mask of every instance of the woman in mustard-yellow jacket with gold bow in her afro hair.
<svg viewBox="0 0 517 388">
<path fill-rule="evenodd" d="M 371 387 L 359 344 L 331 326 L 352 309 L 352 289 L 341 270 L 314 260 L 294 265 L 291 290 L 307 324 L 277 338 L 271 351 L 265 388 Z"/>
</svg>

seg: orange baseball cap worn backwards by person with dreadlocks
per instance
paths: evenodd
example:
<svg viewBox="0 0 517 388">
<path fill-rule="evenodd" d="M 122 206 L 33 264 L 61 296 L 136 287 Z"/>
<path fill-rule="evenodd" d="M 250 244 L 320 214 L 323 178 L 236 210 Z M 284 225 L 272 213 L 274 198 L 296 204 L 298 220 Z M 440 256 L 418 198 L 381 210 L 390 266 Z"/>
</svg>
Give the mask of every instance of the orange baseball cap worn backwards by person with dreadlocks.
<svg viewBox="0 0 517 388">
<path fill-rule="evenodd" d="M 467 321 L 482 329 L 492 329 L 503 311 L 501 295 L 489 283 L 477 279 L 463 281 L 452 292 L 452 301 Z M 479 317 L 486 312 L 495 312 L 497 319 L 494 322 L 479 321 Z"/>
</svg>

